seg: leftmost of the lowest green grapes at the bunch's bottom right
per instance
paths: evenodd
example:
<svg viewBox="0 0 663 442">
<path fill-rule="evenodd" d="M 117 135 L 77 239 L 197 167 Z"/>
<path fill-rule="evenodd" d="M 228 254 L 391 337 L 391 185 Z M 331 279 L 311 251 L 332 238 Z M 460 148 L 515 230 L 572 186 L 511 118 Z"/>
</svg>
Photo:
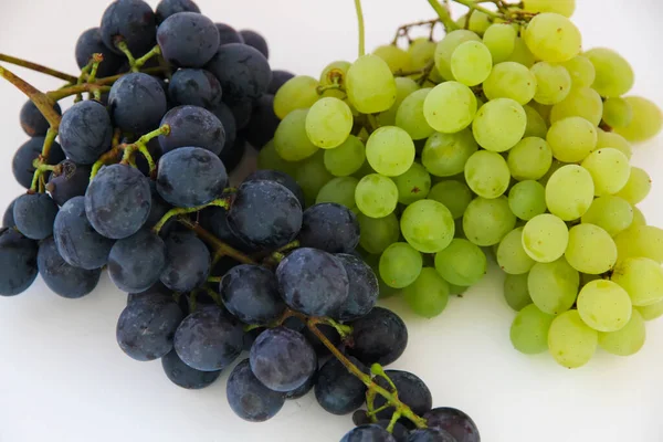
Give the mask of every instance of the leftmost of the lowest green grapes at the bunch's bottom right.
<svg viewBox="0 0 663 442">
<path fill-rule="evenodd" d="M 524 307 L 512 324 L 511 340 L 514 348 L 525 355 L 536 355 L 548 349 L 548 329 L 555 316 L 538 309 L 534 304 Z"/>
</svg>

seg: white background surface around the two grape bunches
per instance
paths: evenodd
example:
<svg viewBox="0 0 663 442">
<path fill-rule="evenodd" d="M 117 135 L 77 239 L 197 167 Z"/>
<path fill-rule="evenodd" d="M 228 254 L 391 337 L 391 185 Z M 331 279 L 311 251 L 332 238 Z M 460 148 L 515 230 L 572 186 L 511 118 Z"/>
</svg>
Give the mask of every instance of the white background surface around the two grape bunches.
<svg viewBox="0 0 663 442">
<path fill-rule="evenodd" d="M 157 1 L 149 1 L 156 6 Z M 105 0 L 0 0 L 0 52 L 75 73 L 78 34 L 98 25 Z M 198 0 L 214 21 L 267 36 L 271 63 L 317 76 L 330 61 L 356 56 L 351 0 Z M 364 0 L 367 48 L 387 43 L 396 28 L 434 17 L 425 0 Z M 585 46 L 617 49 L 636 72 L 633 93 L 663 106 L 657 0 L 578 0 L 575 20 Z M 65 6 L 66 4 L 66 6 Z M 7 64 L 4 64 L 7 66 Z M 7 66 L 9 67 L 9 66 Z M 48 90 L 41 74 L 17 73 Z M 0 206 L 22 190 L 11 173 L 14 150 L 27 140 L 18 115 L 24 97 L 0 81 Z M 636 147 L 633 161 L 654 178 L 641 204 L 663 225 L 663 137 Z M 225 401 L 225 379 L 187 391 L 159 361 L 137 362 L 115 341 L 126 295 L 103 277 L 96 292 L 69 301 L 38 280 L 20 296 L 0 298 L 0 441 L 338 441 L 350 417 L 325 413 L 309 394 L 288 402 L 272 421 L 243 422 Z M 546 354 L 526 357 L 508 339 L 514 313 L 493 269 L 439 317 L 425 320 L 398 302 L 410 344 L 393 367 L 431 388 L 435 406 L 466 411 L 485 442 L 617 442 L 663 440 L 663 320 L 648 324 L 640 354 L 598 351 L 586 367 L 567 370 Z"/>
</svg>

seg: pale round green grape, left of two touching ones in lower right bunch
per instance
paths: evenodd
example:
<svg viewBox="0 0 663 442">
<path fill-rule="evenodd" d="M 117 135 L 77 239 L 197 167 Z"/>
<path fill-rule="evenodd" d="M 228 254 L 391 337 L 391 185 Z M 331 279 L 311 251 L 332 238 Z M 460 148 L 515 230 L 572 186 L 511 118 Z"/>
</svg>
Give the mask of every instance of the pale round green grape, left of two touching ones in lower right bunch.
<svg viewBox="0 0 663 442">
<path fill-rule="evenodd" d="M 566 223 L 550 213 L 534 217 L 523 230 L 523 249 L 533 260 L 543 263 L 558 260 L 568 241 Z"/>
</svg>

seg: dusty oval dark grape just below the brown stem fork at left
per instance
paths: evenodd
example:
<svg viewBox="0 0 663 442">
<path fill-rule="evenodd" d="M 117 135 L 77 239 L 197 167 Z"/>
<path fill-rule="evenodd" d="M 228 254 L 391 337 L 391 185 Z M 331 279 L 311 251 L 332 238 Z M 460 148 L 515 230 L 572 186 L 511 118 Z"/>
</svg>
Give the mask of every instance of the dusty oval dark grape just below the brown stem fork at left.
<svg viewBox="0 0 663 442">
<path fill-rule="evenodd" d="M 113 125 L 106 107 L 86 99 L 66 109 L 60 123 L 60 143 L 69 159 L 92 165 L 110 148 Z"/>
</svg>

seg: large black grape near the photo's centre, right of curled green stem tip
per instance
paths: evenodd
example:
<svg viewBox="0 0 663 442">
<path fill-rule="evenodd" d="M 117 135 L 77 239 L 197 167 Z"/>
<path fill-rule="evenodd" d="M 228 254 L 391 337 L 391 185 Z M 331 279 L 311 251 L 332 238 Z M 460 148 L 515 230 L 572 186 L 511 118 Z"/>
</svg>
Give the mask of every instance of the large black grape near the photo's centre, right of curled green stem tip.
<svg viewBox="0 0 663 442">
<path fill-rule="evenodd" d="M 231 230 L 256 248 L 280 248 L 293 241 L 302 228 L 302 206 L 275 181 L 248 181 L 235 193 L 228 212 Z"/>
</svg>

